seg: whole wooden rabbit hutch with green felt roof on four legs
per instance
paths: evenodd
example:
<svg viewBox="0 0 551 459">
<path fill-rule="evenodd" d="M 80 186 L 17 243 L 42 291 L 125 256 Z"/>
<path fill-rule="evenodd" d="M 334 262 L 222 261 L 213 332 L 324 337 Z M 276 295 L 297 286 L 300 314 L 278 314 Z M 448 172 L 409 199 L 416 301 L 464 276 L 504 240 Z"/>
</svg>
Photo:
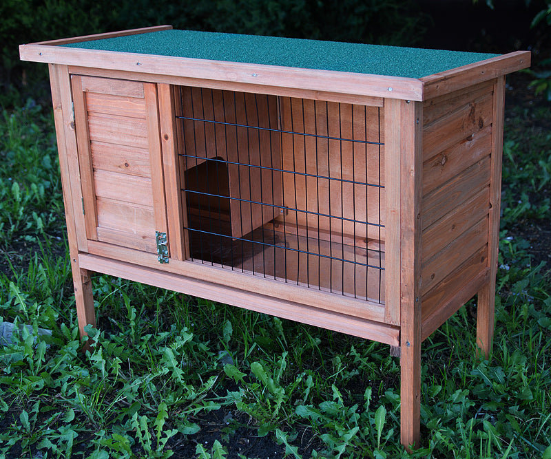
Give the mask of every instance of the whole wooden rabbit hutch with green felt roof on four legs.
<svg viewBox="0 0 551 459">
<path fill-rule="evenodd" d="M 492 345 L 502 56 L 169 26 L 21 45 L 50 64 L 81 334 L 90 272 L 388 343 L 478 295 Z"/>
</svg>

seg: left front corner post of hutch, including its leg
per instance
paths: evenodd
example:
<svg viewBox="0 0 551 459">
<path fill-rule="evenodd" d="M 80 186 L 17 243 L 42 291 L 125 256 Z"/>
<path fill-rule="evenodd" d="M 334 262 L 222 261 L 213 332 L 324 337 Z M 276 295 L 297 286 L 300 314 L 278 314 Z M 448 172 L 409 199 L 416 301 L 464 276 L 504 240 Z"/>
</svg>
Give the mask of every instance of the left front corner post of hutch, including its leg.
<svg viewBox="0 0 551 459">
<path fill-rule="evenodd" d="M 79 331 L 83 337 L 86 334 L 85 325 L 96 325 L 96 315 L 90 273 L 79 266 L 79 250 L 88 249 L 83 218 L 79 218 L 79 215 L 82 215 L 82 208 L 79 206 L 81 185 L 72 119 L 70 76 L 66 65 L 50 64 L 49 68 L 76 313 L 79 318 Z"/>
</svg>

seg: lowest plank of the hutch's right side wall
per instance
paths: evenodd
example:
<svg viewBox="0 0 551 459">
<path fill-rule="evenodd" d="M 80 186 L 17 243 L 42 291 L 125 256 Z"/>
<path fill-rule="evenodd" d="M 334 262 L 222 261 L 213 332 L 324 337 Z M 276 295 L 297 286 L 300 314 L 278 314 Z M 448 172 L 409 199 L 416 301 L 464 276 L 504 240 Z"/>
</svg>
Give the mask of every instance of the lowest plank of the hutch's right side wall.
<svg viewBox="0 0 551 459">
<path fill-rule="evenodd" d="M 422 339 L 426 339 L 488 281 L 488 246 L 459 265 L 422 298 Z"/>
</svg>

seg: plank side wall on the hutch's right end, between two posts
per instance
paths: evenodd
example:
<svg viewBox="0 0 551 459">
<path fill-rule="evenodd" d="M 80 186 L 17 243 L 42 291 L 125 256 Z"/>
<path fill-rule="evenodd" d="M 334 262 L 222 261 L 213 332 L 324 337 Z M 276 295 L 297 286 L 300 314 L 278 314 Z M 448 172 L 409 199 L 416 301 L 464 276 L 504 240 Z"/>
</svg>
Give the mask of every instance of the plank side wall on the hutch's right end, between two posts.
<svg viewBox="0 0 551 459">
<path fill-rule="evenodd" d="M 487 271 L 494 83 L 424 103 L 423 339 L 476 294 Z"/>
</svg>

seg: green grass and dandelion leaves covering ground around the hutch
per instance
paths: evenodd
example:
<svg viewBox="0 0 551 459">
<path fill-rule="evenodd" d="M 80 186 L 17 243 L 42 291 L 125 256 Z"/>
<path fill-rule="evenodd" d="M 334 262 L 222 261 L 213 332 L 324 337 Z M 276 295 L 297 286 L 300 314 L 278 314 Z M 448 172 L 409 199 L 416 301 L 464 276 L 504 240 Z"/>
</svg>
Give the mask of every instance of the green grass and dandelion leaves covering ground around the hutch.
<svg viewBox="0 0 551 459">
<path fill-rule="evenodd" d="M 425 341 L 408 455 L 379 343 L 96 275 L 79 352 L 50 110 L 4 110 L 0 317 L 33 332 L 0 348 L 0 458 L 551 458 L 550 273 L 514 233 L 551 217 L 550 138 L 505 145 L 494 353 L 475 358 L 472 301 Z"/>
</svg>

